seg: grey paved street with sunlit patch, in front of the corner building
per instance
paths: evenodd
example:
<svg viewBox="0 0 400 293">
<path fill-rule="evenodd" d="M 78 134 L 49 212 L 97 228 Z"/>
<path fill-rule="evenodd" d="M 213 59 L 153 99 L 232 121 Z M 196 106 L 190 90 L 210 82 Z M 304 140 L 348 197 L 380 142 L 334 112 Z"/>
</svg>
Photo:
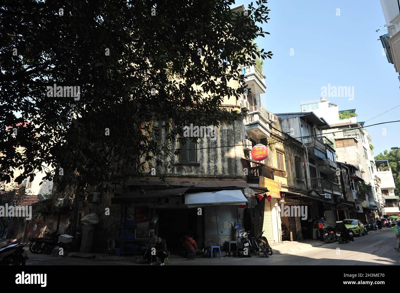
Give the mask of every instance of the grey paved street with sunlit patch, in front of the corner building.
<svg viewBox="0 0 400 293">
<path fill-rule="evenodd" d="M 393 229 L 383 228 L 355 238 L 353 243 L 324 244 L 294 254 L 274 254 L 268 259 L 263 256 L 229 258 L 223 253 L 222 259 L 196 258 L 188 261 L 174 255 L 170 257 L 171 263 L 166 265 L 400 265 L 400 252 L 394 250 L 395 243 Z M 138 265 L 132 260 L 107 260 L 115 256 L 101 260 L 52 258 L 43 254 L 30 254 L 29 257 L 27 265 Z"/>
</svg>

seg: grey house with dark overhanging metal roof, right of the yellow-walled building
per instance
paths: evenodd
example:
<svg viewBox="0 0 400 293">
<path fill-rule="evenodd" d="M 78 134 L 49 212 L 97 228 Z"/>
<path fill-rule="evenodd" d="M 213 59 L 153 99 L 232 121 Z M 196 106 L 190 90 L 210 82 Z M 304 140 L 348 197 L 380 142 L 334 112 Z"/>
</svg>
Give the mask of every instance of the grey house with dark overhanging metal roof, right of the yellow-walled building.
<svg viewBox="0 0 400 293">
<path fill-rule="evenodd" d="M 341 195 L 341 190 L 334 142 L 322 134 L 323 130 L 330 129 L 330 125 L 313 112 L 280 113 L 276 116 L 282 120 L 283 132 L 298 140 L 306 151 L 306 190 L 290 197 L 308 206 L 310 219 L 325 217 L 328 224 L 334 225 L 334 199 Z"/>
</svg>

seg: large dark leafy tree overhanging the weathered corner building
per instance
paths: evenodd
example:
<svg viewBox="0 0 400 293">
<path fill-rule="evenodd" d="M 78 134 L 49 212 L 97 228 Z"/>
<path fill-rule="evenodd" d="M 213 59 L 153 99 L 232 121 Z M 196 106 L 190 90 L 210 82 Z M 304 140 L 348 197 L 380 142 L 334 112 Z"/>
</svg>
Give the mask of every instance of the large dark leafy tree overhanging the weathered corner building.
<svg viewBox="0 0 400 293">
<path fill-rule="evenodd" d="M 79 191 L 146 163 L 162 173 L 178 151 L 160 136 L 240 115 L 220 105 L 245 90 L 241 65 L 272 56 L 252 43 L 268 34 L 266 2 L 245 12 L 226 0 L 3 2 L 0 119 L 12 128 L 0 130 L 0 181 L 49 165 L 43 179 Z"/>
</svg>

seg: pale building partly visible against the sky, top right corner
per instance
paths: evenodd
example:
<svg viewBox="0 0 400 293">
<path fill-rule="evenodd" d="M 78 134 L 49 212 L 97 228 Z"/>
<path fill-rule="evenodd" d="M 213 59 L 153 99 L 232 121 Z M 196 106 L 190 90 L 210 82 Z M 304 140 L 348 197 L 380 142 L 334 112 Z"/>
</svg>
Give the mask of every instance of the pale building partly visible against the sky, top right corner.
<svg viewBox="0 0 400 293">
<path fill-rule="evenodd" d="M 400 80 L 400 2 L 398 0 L 380 0 L 388 33 L 380 40 L 388 62 L 394 65 Z"/>
</svg>

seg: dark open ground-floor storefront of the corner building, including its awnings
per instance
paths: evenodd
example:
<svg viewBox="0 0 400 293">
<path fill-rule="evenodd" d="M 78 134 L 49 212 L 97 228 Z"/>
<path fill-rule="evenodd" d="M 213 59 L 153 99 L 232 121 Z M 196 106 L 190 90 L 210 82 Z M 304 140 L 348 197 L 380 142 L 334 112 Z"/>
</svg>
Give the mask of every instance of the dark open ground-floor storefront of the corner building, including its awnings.
<svg viewBox="0 0 400 293">
<path fill-rule="evenodd" d="M 198 181 L 190 187 L 163 189 L 150 185 L 116 192 L 111 203 L 122 205 L 123 223 L 116 236 L 117 245 L 124 253 L 137 253 L 150 229 L 166 240 L 172 252 L 182 251 L 185 234 L 193 236 L 199 248 L 222 247 L 225 241 L 236 240 L 235 224 L 244 222 L 244 211 L 238 205 L 248 202 L 242 192 L 248 185 L 244 181 L 222 182 Z"/>
</svg>

